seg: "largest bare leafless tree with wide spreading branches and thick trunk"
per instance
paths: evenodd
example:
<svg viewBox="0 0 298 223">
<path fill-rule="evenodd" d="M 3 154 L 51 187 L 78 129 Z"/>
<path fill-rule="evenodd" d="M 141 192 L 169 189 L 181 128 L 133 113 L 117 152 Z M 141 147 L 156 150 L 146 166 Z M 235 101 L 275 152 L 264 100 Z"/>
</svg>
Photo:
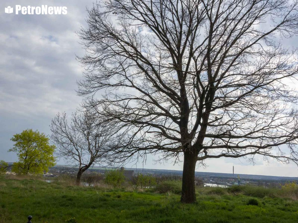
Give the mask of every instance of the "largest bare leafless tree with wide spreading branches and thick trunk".
<svg viewBox="0 0 298 223">
<path fill-rule="evenodd" d="M 183 154 L 182 202 L 196 200 L 198 161 L 297 163 L 297 92 L 288 87 L 297 51 L 281 41 L 298 31 L 297 9 L 288 0 L 101 1 L 79 32 L 79 92 L 126 135 L 119 158 Z"/>
</svg>

